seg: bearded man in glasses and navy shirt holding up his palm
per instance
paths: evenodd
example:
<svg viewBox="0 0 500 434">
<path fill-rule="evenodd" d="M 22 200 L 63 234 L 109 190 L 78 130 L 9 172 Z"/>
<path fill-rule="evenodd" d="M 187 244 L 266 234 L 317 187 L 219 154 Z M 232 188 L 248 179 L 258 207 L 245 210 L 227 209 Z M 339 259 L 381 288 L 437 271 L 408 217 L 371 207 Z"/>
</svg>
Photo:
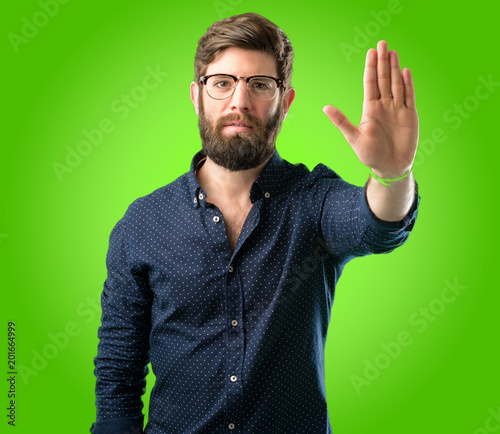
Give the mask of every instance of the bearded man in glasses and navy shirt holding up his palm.
<svg viewBox="0 0 500 434">
<path fill-rule="evenodd" d="M 418 117 L 410 71 L 367 53 L 359 127 L 324 111 L 364 187 L 275 149 L 295 97 L 292 46 L 243 14 L 200 39 L 191 100 L 203 149 L 114 227 L 99 328 L 94 433 L 331 433 L 324 345 L 335 285 L 356 256 L 403 244 L 417 216 Z M 375 177 L 375 178 L 374 178 Z"/>
</svg>

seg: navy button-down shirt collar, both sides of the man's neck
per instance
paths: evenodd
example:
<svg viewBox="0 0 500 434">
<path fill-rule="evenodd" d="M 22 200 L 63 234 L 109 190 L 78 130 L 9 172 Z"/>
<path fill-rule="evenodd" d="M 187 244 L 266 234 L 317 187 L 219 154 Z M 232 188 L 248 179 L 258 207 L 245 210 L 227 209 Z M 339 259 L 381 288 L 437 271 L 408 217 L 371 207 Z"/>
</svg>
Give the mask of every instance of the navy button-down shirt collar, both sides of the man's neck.
<svg viewBox="0 0 500 434">
<path fill-rule="evenodd" d="M 191 161 L 191 168 L 188 174 L 189 196 L 193 207 L 204 205 L 206 197 L 205 192 L 201 188 L 195 171 L 203 165 L 202 160 L 206 158 L 205 153 L 198 151 Z M 200 164 L 201 163 L 201 164 Z M 260 198 L 269 199 L 279 193 L 280 186 L 283 184 L 283 175 L 285 170 L 285 161 L 280 157 L 275 149 L 274 154 L 268 161 L 264 170 L 255 180 L 250 189 L 250 200 L 255 202 Z"/>
</svg>

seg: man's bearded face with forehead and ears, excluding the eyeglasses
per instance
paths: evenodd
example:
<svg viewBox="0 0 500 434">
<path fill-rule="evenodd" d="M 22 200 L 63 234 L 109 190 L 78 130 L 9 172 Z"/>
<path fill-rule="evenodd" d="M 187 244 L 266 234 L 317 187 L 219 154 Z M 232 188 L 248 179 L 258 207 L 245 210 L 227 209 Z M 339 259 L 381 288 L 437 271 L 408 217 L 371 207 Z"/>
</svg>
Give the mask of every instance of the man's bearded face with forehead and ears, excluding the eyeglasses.
<svg viewBox="0 0 500 434">
<path fill-rule="evenodd" d="M 208 65 L 205 75 L 210 74 L 277 77 L 276 60 L 260 51 L 231 47 Z M 290 89 L 286 95 L 279 91 L 271 101 L 257 101 L 249 95 L 247 83 L 238 80 L 230 98 L 215 100 L 207 94 L 206 86 L 191 83 L 203 151 L 231 171 L 253 169 L 265 163 L 274 153 L 276 136 L 294 96 L 295 90 Z M 235 125 L 238 123 L 245 125 Z"/>
</svg>

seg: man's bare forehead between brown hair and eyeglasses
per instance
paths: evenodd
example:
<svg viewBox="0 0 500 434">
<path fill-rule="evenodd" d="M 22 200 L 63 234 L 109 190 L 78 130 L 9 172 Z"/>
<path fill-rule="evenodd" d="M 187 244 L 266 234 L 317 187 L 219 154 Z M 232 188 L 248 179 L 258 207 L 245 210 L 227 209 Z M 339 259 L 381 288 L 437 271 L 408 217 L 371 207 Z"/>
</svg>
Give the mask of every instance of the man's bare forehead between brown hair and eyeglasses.
<svg viewBox="0 0 500 434">
<path fill-rule="evenodd" d="M 277 77 L 276 59 L 262 51 L 230 47 L 221 51 L 208 65 L 206 75 L 231 74 L 237 77 L 271 75 Z"/>
</svg>

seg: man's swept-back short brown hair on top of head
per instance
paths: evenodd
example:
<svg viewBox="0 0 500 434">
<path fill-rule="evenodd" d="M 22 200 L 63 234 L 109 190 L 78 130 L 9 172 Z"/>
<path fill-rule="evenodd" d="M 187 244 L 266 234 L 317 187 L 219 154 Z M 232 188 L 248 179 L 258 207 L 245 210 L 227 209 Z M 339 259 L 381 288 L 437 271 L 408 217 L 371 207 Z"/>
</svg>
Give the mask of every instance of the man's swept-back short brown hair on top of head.
<svg viewBox="0 0 500 434">
<path fill-rule="evenodd" d="M 200 38 L 194 58 L 194 78 L 197 83 L 215 57 L 230 47 L 273 55 L 278 77 L 283 79 L 285 89 L 291 86 L 292 44 L 276 24 L 252 12 L 216 21 Z"/>
</svg>

